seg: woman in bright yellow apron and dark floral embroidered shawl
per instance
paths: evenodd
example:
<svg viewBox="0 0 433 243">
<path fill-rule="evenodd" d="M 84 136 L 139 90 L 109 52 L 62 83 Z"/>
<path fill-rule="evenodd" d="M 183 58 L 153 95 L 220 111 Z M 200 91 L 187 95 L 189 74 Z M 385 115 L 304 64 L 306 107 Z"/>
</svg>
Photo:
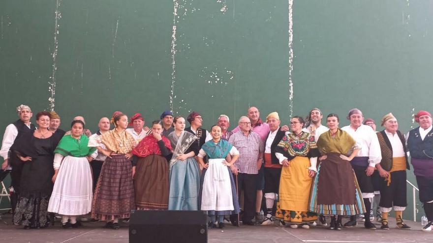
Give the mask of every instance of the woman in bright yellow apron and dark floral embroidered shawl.
<svg viewBox="0 0 433 243">
<path fill-rule="evenodd" d="M 314 137 L 302 131 L 304 124 L 302 117 L 294 116 L 291 133 L 286 133 L 275 150 L 283 165 L 276 217 L 282 225 L 288 222 L 291 228 L 309 229 L 307 223 L 317 220 L 316 214 L 308 212 L 308 202 L 319 153 Z"/>
</svg>

